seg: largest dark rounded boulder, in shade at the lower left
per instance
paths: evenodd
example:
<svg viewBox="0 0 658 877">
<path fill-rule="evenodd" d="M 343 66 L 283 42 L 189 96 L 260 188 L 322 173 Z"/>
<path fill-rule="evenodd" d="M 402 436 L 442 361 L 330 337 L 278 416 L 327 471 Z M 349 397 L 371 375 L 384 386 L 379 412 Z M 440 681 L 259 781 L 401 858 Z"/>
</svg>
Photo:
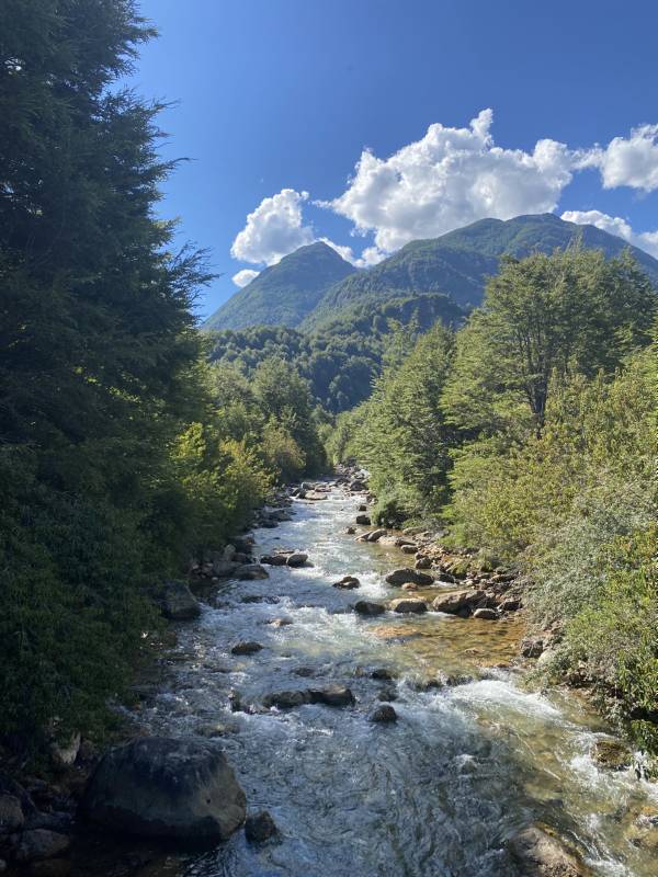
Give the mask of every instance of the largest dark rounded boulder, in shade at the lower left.
<svg viewBox="0 0 658 877">
<path fill-rule="evenodd" d="M 105 753 L 80 809 L 112 831 L 213 843 L 242 824 L 246 798 L 216 743 L 147 737 Z"/>
</svg>

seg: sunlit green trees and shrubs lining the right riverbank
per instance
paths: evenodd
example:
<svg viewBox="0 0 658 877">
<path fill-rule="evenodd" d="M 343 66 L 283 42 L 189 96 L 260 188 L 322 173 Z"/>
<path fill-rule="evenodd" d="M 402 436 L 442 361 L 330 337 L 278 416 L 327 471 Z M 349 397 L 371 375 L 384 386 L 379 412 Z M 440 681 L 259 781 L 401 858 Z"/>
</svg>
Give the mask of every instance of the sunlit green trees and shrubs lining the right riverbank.
<svg viewBox="0 0 658 877">
<path fill-rule="evenodd" d="M 330 440 L 371 471 L 377 522 L 434 519 L 515 565 L 549 674 L 654 750 L 656 304 L 627 253 L 507 259 L 466 324 L 401 346 Z"/>
</svg>

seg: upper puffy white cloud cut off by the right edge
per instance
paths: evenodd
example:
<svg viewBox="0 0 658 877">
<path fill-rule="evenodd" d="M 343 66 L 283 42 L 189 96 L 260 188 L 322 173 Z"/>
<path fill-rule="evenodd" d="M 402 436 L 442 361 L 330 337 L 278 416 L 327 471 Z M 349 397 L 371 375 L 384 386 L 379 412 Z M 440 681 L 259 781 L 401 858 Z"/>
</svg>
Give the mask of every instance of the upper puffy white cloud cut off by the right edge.
<svg viewBox="0 0 658 877">
<path fill-rule="evenodd" d="M 605 148 L 588 150 L 581 167 L 599 168 L 604 189 L 627 185 L 654 192 L 658 189 L 658 125 L 640 125 L 629 137 L 614 137 Z"/>
</svg>

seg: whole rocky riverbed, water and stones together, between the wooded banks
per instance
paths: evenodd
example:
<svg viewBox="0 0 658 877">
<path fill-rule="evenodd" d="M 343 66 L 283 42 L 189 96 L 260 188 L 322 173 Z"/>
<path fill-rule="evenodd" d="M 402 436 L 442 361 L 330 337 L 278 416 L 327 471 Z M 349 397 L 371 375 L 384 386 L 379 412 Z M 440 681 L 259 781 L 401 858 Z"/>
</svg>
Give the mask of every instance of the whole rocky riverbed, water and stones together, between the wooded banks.
<svg viewBox="0 0 658 877">
<path fill-rule="evenodd" d="M 213 810 L 223 818 L 211 848 L 128 839 L 128 821 L 114 827 L 120 835 L 86 831 L 72 851 L 26 858 L 24 869 L 655 875 L 658 789 L 636 778 L 576 695 L 524 687 L 522 596 L 510 572 L 449 555 L 422 532 L 374 528 L 365 485 L 348 474 L 296 494 L 264 510 L 252 538 L 195 562 L 194 595 L 164 589 L 178 646 L 127 719 L 173 750 L 114 756 L 129 783 L 155 759 L 147 773 L 167 784 L 184 749 L 185 770 L 193 764 L 203 788 L 230 804 Z M 122 807 L 135 801 L 124 795 Z M 201 822 L 189 822 L 206 830 L 206 805 L 193 804 Z M 158 806 L 162 824 L 173 818 Z M 34 819 L 27 801 L 19 810 Z M 25 824 L 14 824 L 19 843 Z M 60 829 L 68 839 L 70 825 Z"/>
</svg>

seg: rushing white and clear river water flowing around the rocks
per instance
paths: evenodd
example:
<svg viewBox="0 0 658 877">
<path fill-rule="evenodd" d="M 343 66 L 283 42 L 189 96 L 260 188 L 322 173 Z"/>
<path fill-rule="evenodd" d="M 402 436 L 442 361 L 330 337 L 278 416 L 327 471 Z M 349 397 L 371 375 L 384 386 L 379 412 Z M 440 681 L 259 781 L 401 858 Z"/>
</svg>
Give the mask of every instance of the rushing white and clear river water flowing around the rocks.
<svg viewBox="0 0 658 877">
<path fill-rule="evenodd" d="M 298 548 L 314 566 L 223 585 L 200 622 L 181 627 L 167 687 L 140 713 L 152 733 L 227 725 L 223 743 L 249 809 L 272 813 L 280 842 L 254 846 L 238 832 L 213 852 L 132 873 L 512 877 L 504 841 L 540 820 L 575 840 L 597 875 L 655 877 L 657 847 L 638 843 L 636 821 L 643 808 L 658 813 L 658 790 L 632 771 L 597 768 L 590 752 L 606 729 L 576 697 L 527 692 L 501 668 L 515 653 L 518 622 L 350 611 L 358 599 L 399 596 L 383 576 L 405 565 L 397 549 L 344 533 L 355 509 L 334 489 L 257 531 L 261 553 Z M 348 573 L 359 591 L 331 586 Z M 292 624 L 269 624 L 283 617 Z M 236 658 L 238 640 L 264 648 Z M 372 679 L 375 668 L 396 681 Z M 428 690 L 440 671 L 473 680 Z M 270 692 L 334 682 L 352 688 L 354 707 L 230 711 L 231 690 L 258 705 Z M 397 724 L 370 722 L 392 686 Z"/>
</svg>

